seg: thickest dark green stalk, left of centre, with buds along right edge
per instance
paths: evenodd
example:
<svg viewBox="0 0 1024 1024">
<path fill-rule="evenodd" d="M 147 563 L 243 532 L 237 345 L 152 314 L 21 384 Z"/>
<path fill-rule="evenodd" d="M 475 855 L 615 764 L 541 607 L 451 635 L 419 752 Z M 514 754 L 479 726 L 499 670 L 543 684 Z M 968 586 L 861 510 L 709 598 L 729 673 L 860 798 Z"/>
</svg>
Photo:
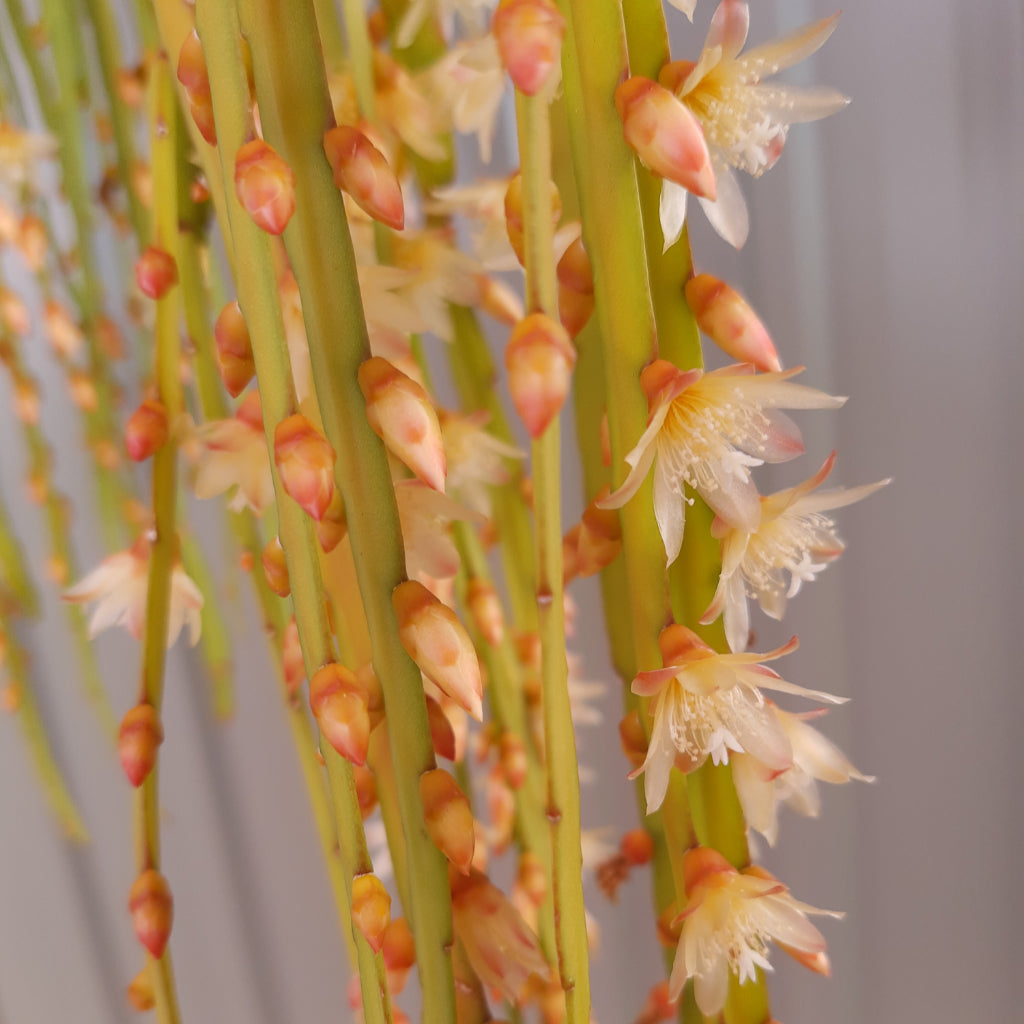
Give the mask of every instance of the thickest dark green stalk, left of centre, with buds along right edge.
<svg viewBox="0 0 1024 1024">
<path fill-rule="evenodd" d="M 272 0 L 247 0 L 243 10 L 263 128 L 296 174 L 296 209 L 285 244 L 302 297 L 328 439 L 338 454 L 337 478 L 384 690 L 414 880 L 411 916 L 424 1020 L 440 1024 L 453 1019 L 455 999 L 447 868 L 427 835 L 420 804 L 419 777 L 434 767 L 434 756 L 420 672 L 398 639 L 391 605 L 391 592 L 406 579 L 404 550 L 387 456 L 367 422 L 357 381 L 370 349 L 344 204 L 323 150 L 334 116 L 323 63 L 313 56 L 311 5 L 292 3 L 286 12 Z M 339 339 L 342 330 L 347 337 Z"/>
</svg>

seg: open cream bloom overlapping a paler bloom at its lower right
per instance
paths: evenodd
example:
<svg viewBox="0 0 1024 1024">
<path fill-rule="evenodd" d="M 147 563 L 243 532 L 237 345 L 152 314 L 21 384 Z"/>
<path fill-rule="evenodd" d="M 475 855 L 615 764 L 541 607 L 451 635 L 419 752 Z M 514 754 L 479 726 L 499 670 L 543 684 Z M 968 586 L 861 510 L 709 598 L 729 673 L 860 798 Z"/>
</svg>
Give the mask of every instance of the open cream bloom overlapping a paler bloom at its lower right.
<svg viewBox="0 0 1024 1024">
<path fill-rule="evenodd" d="M 776 773 L 793 764 L 790 739 L 762 690 L 830 703 L 844 699 L 787 683 L 762 664 L 796 650 L 796 637 L 765 654 L 719 654 L 685 626 L 674 625 L 658 643 L 665 668 L 641 672 L 632 686 L 638 696 L 653 698 L 647 756 L 630 776 L 644 773 L 648 814 L 665 800 L 673 764 L 684 772 L 709 757 L 728 764 L 730 751 L 751 754 Z"/>
</svg>

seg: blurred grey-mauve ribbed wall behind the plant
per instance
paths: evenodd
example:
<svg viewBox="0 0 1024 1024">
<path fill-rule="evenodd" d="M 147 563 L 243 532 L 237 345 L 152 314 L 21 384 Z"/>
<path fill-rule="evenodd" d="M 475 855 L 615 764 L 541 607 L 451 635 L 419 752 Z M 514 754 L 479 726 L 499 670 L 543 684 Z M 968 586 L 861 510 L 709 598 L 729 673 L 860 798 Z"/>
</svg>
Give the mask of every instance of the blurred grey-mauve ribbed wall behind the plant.
<svg viewBox="0 0 1024 1024">
<path fill-rule="evenodd" d="M 753 42 L 834 10 L 817 0 L 752 7 Z M 699 0 L 693 27 L 670 10 L 676 56 L 695 56 L 712 10 Z M 795 128 L 778 166 L 744 179 L 752 231 L 742 253 L 694 209 L 695 261 L 746 294 L 783 361 L 807 365 L 806 383 L 851 396 L 839 413 L 802 416 L 808 457 L 767 486 L 802 479 L 833 447 L 835 482 L 895 480 L 838 514 L 847 553 L 795 599 L 784 629 L 754 621 L 758 649 L 800 635 L 786 678 L 852 698 L 825 731 L 878 777 L 827 788 L 816 821 L 783 813 L 776 848 L 761 844 L 798 898 L 847 913 L 822 926 L 830 980 L 776 951 L 773 1010 L 785 1024 L 1022 1020 L 1022 7 L 862 0 L 790 80 L 835 86 L 853 101 Z M 62 385 L 46 386 L 45 358 L 35 369 L 56 438 Z M 0 403 L 10 400 L 5 379 Z M 88 520 L 89 469 L 66 441 L 56 478 L 75 496 L 75 540 L 90 566 L 103 551 Z M 0 473 L 39 564 L 46 546 L 13 436 L 0 443 Z M 578 487 L 571 474 L 566 485 Z M 567 522 L 580 501 L 566 495 Z M 205 514 L 212 524 L 213 510 Z M 346 1021 L 347 970 L 312 821 L 253 608 L 241 583 L 236 590 L 229 723 L 212 721 L 191 652 L 179 644 L 170 656 L 161 795 L 183 1016 Z M 584 675 L 605 684 L 603 725 L 582 737 L 595 777 L 584 788 L 585 826 L 607 826 L 615 842 L 635 823 L 618 754 L 621 694 L 600 631 L 588 625 L 600 621 L 596 591 L 577 585 L 573 594 Z M 16 724 L 0 718 L 0 1022 L 121 1024 L 132 1017 L 124 986 L 141 964 L 126 912 L 131 796 L 77 687 L 52 589 L 45 612 L 19 638 L 93 839 L 83 848 L 60 840 Z M 98 645 L 123 710 L 137 647 L 111 632 Z M 589 906 L 602 930 L 594 1016 L 628 1024 L 660 976 L 648 880 L 638 872 L 615 904 L 592 892 Z"/>
</svg>

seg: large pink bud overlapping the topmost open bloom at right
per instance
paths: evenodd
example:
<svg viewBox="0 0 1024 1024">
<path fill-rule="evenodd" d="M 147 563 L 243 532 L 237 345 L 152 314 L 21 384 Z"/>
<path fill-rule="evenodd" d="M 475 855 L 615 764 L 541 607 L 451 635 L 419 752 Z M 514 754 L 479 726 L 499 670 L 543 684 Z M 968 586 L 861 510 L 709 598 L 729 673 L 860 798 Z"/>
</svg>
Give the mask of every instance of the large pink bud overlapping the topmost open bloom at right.
<svg viewBox="0 0 1024 1024">
<path fill-rule="evenodd" d="M 703 199 L 717 196 L 700 123 L 668 89 L 634 75 L 615 89 L 623 135 L 640 162 Z"/>
</svg>

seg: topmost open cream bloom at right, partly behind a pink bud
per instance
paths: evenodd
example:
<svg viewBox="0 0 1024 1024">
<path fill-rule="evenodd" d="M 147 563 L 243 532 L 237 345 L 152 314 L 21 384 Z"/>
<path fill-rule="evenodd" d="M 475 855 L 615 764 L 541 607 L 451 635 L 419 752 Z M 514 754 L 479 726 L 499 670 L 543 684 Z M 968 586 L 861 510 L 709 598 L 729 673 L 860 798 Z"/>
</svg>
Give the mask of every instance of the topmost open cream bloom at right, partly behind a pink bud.
<svg viewBox="0 0 1024 1024">
<path fill-rule="evenodd" d="M 703 128 L 718 195 L 715 200 L 701 199 L 700 206 L 715 230 L 737 249 L 746 241 L 750 221 L 733 169 L 759 176 L 778 160 L 790 125 L 817 121 L 849 102 L 835 89 L 765 81 L 814 53 L 833 34 L 838 17 L 805 26 L 740 56 L 750 10 L 743 0 L 722 0 L 696 63 L 676 60 L 658 76 Z M 686 191 L 666 181 L 662 191 L 666 248 L 679 238 L 685 211 Z"/>
</svg>

